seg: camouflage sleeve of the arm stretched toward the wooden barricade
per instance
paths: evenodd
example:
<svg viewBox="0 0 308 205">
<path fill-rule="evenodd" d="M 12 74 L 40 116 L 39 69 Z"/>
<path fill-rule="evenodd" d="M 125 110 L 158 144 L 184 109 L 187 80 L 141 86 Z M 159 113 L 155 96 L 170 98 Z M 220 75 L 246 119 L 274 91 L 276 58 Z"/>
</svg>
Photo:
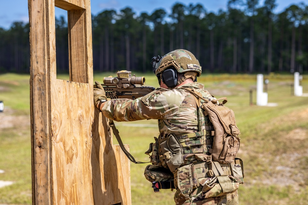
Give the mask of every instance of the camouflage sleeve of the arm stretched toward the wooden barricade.
<svg viewBox="0 0 308 205">
<path fill-rule="evenodd" d="M 176 114 L 185 96 L 178 90 L 156 89 L 135 100 L 107 101 L 102 112 L 104 116 L 115 121 L 167 119 Z"/>
</svg>

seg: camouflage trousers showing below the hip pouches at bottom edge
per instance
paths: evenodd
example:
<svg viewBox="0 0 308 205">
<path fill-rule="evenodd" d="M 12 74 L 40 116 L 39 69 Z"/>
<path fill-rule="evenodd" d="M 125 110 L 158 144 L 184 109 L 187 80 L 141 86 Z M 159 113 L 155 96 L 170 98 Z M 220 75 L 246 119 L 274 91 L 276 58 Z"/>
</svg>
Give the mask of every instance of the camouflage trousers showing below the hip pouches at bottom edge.
<svg viewBox="0 0 308 205">
<path fill-rule="evenodd" d="M 237 191 L 231 194 L 217 196 L 217 197 L 202 197 L 202 187 L 193 189 L 190 199 L 185 199 L 178 189 L 174 195 L 176 205 L 238 205 Z"/>
</svg>

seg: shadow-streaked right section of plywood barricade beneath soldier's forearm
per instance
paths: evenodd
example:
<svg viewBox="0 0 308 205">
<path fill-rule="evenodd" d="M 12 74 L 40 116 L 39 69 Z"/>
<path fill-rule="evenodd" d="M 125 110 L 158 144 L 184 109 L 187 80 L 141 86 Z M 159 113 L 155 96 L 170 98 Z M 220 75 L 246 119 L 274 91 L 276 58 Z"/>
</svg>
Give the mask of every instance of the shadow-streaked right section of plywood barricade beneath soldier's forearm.
<svg viewBox="0 0 308 205">
<path fill-rule="evenodd" d="M 130 205 L 130 161 L 119 145 L 113 145 L 107 124 L 102 113 L 95 112 L 91 152 L 94 204 Z M 125 148 L 129 150 L 127 144 Z"/>
</svg>

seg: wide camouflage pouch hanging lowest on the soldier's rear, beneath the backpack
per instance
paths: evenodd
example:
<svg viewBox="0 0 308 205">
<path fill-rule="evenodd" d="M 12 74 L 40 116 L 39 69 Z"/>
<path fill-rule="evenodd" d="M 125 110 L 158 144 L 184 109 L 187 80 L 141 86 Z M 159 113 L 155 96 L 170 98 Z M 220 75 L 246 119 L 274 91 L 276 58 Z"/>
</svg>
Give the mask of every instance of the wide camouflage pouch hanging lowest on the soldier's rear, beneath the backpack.
<svg viewBox="0 0 308 205">
<path fill-rule="evenodd" d="M 202 187 L 202 197 L 217 197 L 233 193 L 238 189 L 239 183 L 233 176 L 215 176 Z"/>
</svg>

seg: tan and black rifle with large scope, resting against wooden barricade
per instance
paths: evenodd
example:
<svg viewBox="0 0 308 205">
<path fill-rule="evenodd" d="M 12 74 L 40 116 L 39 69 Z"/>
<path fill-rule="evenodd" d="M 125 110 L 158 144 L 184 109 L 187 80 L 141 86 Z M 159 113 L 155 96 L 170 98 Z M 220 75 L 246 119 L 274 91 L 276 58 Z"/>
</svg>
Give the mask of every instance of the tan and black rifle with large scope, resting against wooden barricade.
<svg viewBox="0 0 308 205">
<path fill-rule="evenodd" d="M 136 85 L 144 85 L 145 78 L 132 76 L 131 71 L 121 70 L 117 72 L 117 77 L 104 77 L 103 88 L 106 93 L 106 97 L 110 99 L 128 98 L 135 100 L 138 97 L 143 97 L 148 93 L 151 93 L 155 88 L 153 87 L 136 87 Z M 94 85 L 96 88 L 96 85 Z"/>
</svg>

